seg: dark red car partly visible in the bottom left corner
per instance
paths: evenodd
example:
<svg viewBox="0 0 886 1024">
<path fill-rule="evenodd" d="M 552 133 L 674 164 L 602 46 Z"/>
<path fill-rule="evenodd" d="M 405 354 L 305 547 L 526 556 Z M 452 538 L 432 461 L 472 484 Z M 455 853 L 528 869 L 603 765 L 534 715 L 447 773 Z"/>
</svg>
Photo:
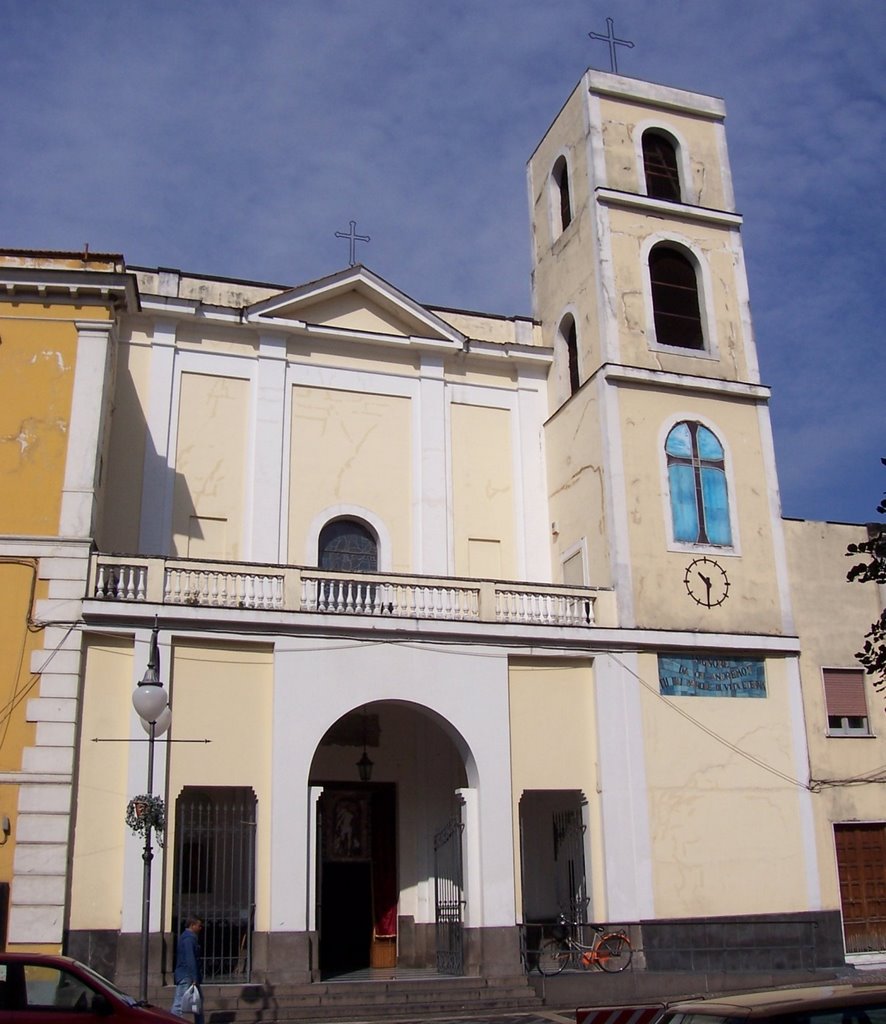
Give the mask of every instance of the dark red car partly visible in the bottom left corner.
<svg viewBox="0 0 886 1024">
<path fill-rule="evenodd" d="M 3 1024 L 182 1024 L 70 956 L 0 952 Z"/>
</svg>

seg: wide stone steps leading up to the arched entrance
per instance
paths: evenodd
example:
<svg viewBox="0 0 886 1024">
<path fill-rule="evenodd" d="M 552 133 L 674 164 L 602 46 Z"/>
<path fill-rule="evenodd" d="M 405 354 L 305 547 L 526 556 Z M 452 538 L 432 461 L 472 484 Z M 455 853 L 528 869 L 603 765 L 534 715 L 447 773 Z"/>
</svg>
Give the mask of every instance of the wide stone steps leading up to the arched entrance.
<svg viewBox="0 0 886 1024">
<path fill-rule="evenodd" d="M 531 1012 L 543 1006 L 524 975 L 453 978 L 430 972 L 361 972 L 307 985 L 204 985 L 206 1024 L 421 1020 L 467 1013 Z M 168 1009 L 174 988 L 149 993 Z"/>
</svg>

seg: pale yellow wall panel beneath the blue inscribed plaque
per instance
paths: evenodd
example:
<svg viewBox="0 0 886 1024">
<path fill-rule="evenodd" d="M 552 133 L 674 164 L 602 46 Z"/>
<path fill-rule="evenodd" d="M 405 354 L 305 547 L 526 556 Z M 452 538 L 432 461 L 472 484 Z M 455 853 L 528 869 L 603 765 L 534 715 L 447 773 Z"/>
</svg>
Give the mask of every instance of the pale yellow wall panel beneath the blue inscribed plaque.
<svg viewBox="0 0 886 1024">
<path fill-rule="evenodd" d="M 808 909 L 785 663 L 765 671 L 765 698 L 662 697 L 640 656 L 657 916 Z"/>
</svg>

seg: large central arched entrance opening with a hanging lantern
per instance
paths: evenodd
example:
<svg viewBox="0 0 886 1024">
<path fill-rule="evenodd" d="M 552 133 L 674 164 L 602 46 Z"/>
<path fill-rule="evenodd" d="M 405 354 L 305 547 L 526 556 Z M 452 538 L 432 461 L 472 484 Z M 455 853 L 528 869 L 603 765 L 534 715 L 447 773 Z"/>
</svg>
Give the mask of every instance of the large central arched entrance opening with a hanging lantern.
<svg viewBox="0 0 886 1024">
<path fill-rule="evenodd" d="M 367 703 L 326 732 L 310 768 L 323 975 L 436 964 L 434 836 L 467 781 L 459 737 L 419 705 Z"/>
</svg>

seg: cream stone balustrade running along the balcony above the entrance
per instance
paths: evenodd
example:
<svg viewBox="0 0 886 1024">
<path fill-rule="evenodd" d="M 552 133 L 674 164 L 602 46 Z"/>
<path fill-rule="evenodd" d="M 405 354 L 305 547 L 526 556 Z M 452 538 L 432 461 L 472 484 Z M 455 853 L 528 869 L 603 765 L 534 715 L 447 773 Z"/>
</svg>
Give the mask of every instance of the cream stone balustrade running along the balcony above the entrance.
<svg viewBox="0 0 886 1024">
<path fill-rule="evenodd" d="M 89 594 L 200 608 L 568 627 L 597 625 L 597 599 L 609 596 L 590 587 L 100 554 L 92 556 Z"/>
</svg>

